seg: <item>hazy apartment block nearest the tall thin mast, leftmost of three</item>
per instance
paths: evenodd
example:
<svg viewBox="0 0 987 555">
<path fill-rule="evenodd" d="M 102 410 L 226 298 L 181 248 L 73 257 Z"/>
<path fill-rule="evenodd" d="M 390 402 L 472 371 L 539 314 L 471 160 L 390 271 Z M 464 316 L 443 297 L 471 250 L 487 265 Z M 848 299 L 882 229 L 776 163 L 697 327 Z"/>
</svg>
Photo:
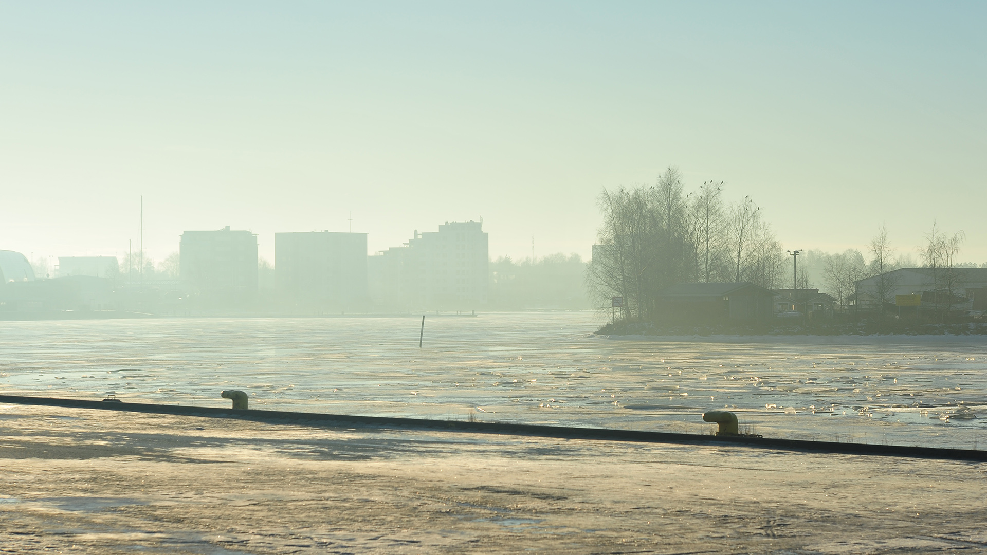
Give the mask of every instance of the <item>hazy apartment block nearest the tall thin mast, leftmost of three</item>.
<svg viewBox="0 0 987 555">
<path fill-rule="evenodd" d="M 179 278 L 200 293 L 256 294 L 257 235 L 250 231 L 186 231 L 179 244 Z"/>
</svg>

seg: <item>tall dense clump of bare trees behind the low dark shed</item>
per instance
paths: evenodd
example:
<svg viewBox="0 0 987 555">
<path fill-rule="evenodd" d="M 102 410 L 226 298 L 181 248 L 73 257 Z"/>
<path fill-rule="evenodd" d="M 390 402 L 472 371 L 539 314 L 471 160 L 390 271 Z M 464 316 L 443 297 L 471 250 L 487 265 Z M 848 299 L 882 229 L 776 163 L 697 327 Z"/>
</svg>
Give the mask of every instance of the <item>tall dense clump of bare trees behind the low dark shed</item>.
<svg viewBox="0 0 987 555">
<path fill-rule="evenodd" d="M 625 318 L 651 319 L 657 291 L 676 283 L 786 279 L 787 255 L 761 209 L 750 197 L 727 203 L 722 182 L 686 193 L 669 168 L 653 186 L 604 190 L 599 206 L 586 285 L 598 307 L 623 297 Z"/>
</svg>

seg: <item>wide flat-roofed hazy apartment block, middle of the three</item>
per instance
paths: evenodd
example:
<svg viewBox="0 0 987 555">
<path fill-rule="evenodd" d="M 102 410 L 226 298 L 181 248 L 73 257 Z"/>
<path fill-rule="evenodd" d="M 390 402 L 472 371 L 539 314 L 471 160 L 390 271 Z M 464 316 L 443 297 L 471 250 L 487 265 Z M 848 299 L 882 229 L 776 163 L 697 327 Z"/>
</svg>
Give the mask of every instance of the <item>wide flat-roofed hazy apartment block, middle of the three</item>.
<svg viewBox="0 0 987 555">
<path fill-rule="evenodd" d="M 367 304 L 367 234 L 274 234 L 274 273 L 285 298 L 314 309 Z"/>
</svg>

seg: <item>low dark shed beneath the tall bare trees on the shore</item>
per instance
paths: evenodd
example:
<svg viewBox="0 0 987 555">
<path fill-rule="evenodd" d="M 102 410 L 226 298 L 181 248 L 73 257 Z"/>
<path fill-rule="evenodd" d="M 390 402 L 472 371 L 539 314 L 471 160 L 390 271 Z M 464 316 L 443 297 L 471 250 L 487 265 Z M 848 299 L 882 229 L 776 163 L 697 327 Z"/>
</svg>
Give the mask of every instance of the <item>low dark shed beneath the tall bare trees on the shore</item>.
<svg viewBox="0 0 987 555">
<path fill-rule="evenodd" d="M 748 281 L 679 283 L 657 292 L 657 312 L 667 321 L 768 322 L 775 292 Z"/>
</svg>

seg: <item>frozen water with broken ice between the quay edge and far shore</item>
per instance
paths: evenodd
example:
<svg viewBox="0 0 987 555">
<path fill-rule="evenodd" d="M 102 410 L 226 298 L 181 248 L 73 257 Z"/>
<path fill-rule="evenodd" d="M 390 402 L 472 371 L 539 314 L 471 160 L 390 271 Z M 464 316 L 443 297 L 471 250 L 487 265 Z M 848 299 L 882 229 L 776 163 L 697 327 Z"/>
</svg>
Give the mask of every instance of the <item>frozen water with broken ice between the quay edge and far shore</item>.
<svg viewBox="0 0 987 555">
<path fill-rule="evenodd" d="M 987 338 L 601 338 L 591 312 L 0 323 L 0 392 L 982 448 Z"/>
</svg>

